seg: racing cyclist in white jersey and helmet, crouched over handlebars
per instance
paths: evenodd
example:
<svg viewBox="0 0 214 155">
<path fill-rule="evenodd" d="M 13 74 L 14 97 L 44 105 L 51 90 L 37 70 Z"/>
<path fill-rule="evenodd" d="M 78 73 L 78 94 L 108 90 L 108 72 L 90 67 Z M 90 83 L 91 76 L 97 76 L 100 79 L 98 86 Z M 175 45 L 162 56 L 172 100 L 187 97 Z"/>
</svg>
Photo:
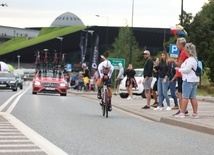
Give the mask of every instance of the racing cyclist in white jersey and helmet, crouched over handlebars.
<svg viewBox="0 0 214 155">
<path fill-rule="evenodd" d="M 112 91 L 111 91 L 111 75 L 114 71 L 114 66 L 111 64 L 110 61 L 105 60 L 101 62 L 98 65 L 98 74 L 99 74 L 99 79 L 97 80 L 97 86 L 98 86 L 98 94 L 97 98 L 102 99 L 101 97 L 101 88 L 103 84 L 103 80 L 107 80 L 107 89 L 108 89 L 108 99 L 109 99 L 109 111 L 112 110 L 111 106 L 111 97 L 112 97 Z M 101 102 L 102 105 L 102 102 Z"/>
</svg>

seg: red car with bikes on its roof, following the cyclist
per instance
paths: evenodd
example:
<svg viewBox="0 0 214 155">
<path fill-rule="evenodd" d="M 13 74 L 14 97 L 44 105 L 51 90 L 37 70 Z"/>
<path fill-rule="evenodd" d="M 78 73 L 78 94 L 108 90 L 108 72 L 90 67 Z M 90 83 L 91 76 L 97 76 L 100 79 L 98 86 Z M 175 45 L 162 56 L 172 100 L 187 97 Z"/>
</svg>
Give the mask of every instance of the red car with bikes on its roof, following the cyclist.
<svg viewBox="0 0 214 155">
<path fill-rule="evenodd" d="M 67 95 L 68 83 L 60 70 L 39 70 L 33 79 L 32 94 L 58 93 Z"/>
</svg>

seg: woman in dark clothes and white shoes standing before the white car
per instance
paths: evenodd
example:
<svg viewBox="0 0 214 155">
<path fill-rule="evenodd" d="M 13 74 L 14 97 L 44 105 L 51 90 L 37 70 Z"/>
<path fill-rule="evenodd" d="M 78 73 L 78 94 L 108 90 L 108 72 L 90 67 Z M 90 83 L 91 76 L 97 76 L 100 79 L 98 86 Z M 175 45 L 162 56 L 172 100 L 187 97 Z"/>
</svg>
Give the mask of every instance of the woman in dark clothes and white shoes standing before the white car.
<svg viewBox="0 0 214 155">
<path fill-rule="evenodd" d="M 128 94 L 129 94 L 127 100 L 133 100 L 132 88 L 137 87 L 137 83 L 134 78 L 135 74 L 136 74 L 136 72 L 133 69 L 132 64 L 129 64 L 128 68 L 124 72 L 124 76 L 127 76 L 125 86 L 126 86 L 126 90 L 127 90 Z"/>
</svg>

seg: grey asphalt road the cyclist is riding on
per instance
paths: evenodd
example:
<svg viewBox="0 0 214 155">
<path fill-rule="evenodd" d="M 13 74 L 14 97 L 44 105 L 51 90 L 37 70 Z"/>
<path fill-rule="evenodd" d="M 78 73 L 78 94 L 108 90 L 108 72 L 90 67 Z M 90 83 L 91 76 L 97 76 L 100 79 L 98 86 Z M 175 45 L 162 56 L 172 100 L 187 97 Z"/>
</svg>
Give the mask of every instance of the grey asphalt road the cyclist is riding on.
<svg viewBox="0 0 214 155">
<path fill-rule="evenodd" d="M 69 155 L 214 154 L 212 135 L 152 122 L 116 108 L 105 118 L 98 101 L 73 94 L 32 95 L 26 85 L 23 91 L 0 90 L 0 96 L 0 108 L 8 101 L 1 114 L 23 123 L 20 129 L 29 129 L 24 132 L 27 137 L 47 140 L 45 149 L 56 146 Z"/>
</svg>

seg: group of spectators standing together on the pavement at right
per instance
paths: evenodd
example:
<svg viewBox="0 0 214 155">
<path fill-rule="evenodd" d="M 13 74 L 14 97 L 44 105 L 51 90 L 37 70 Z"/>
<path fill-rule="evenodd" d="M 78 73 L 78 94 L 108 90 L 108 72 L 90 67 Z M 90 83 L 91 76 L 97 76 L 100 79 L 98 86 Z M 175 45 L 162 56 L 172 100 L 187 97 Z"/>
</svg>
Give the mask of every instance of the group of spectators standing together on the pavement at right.
<svg viewBox="0 0 214 155">
<path fill-rule="evenodd" d="M 161 53 L 160 61 L 155 58 L 153 61 L 150 58 L 150 52 L 144 51 L 144 89 L 146 90 L 147 103 L 142 109 L 163 110 L 163 101 L 166 99 L 167 107 L 165 110 L 178 109 L 173 114 L 177 118 L 184 118 L 187 114 L 187 105 L 190 100 L 193 108 L 192 118 L 199 118 L 198 116 L 198 102 L 196 99 L 196 89 L 199 83 L 199 76 L 196 75 L 197 68 L 197 53 L 196 47 L 192 43 L 186 43 L 185 38 L 178 38 L 176 46 L 179 50 L 177 59 L 170 58 L 167 52 Z M 152 74 L 157 78 L 153 88 L 151 87 Z M 178 83 L 178 100 L 175 94 L 176 81 Z M 150 106 L 151 91 L 154 95 L 154 104 Z M 170 90 L 171 96 L 174 100 L 174 107 L 171 108 L 168 96 Z M 158 92 L 158 98 L 156 95 Z"/>
</svg>

